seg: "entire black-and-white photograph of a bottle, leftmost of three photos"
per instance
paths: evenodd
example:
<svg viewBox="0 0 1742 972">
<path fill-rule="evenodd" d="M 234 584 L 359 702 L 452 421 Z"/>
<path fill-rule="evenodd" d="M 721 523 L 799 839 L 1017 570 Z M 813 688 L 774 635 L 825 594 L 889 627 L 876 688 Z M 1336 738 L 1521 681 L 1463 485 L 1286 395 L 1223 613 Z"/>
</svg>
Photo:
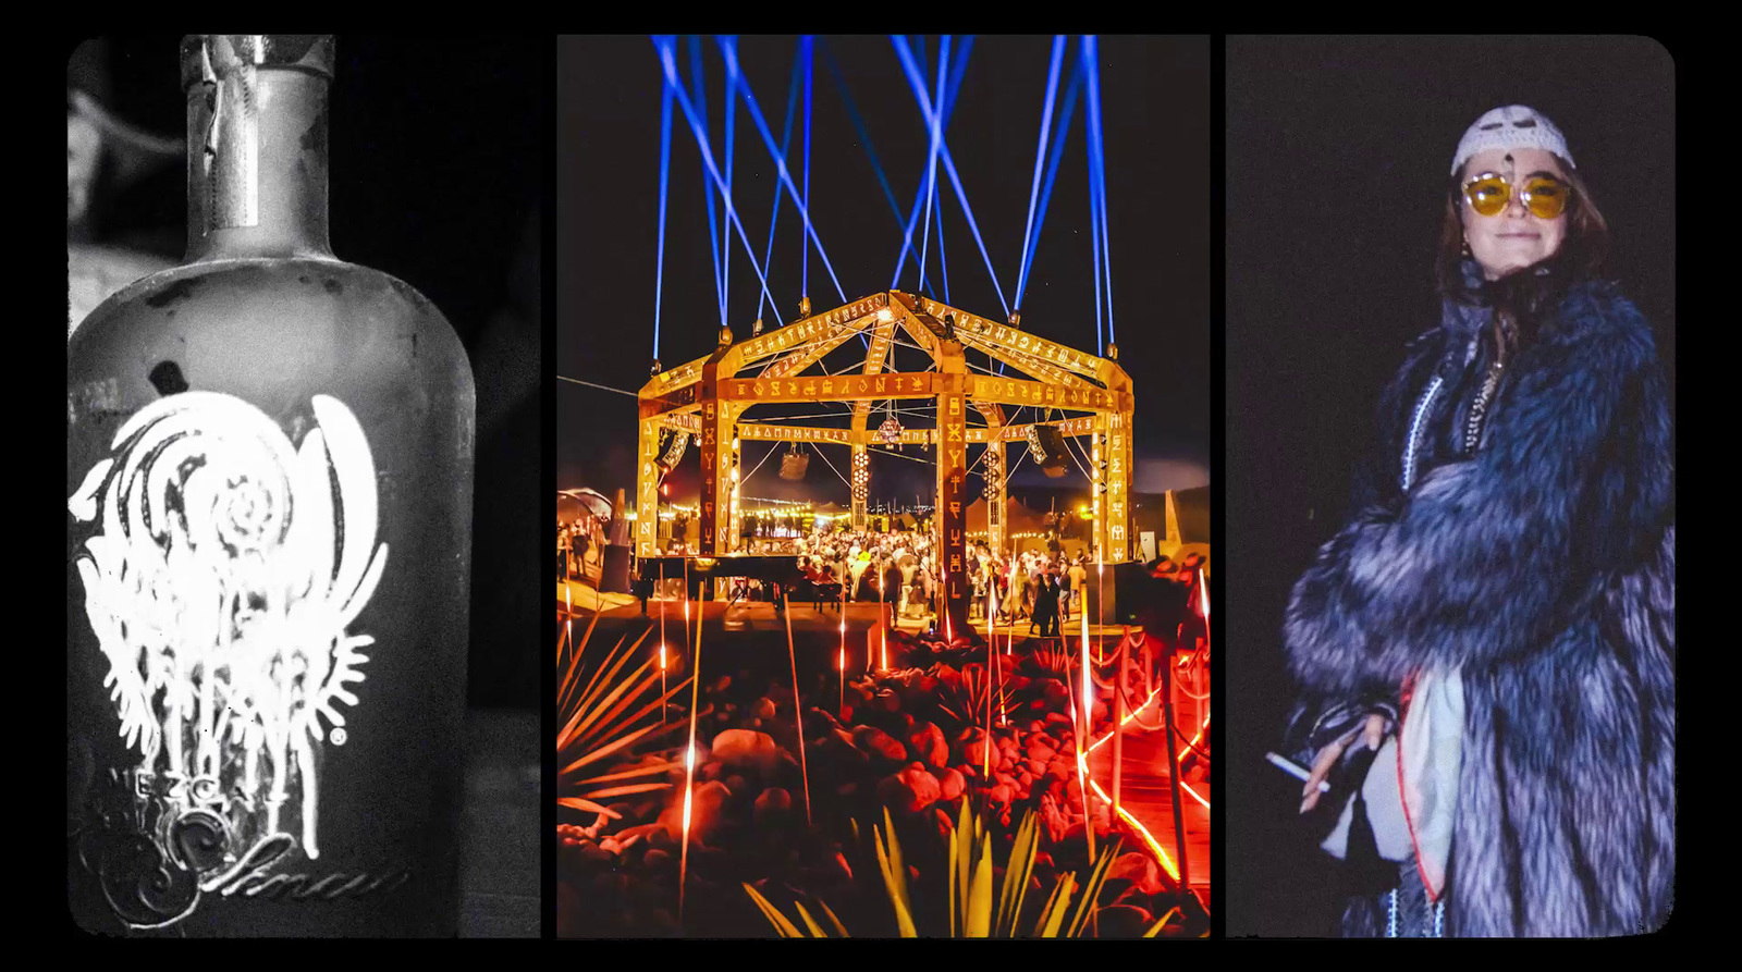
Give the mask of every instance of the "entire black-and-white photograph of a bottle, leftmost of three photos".
<svg viewBox="0 0 1742 972">
<path fill-rule="evenodd" d="M 549 38 L 70 47 L 92 935 L 542 928 Z"/>
</svg>

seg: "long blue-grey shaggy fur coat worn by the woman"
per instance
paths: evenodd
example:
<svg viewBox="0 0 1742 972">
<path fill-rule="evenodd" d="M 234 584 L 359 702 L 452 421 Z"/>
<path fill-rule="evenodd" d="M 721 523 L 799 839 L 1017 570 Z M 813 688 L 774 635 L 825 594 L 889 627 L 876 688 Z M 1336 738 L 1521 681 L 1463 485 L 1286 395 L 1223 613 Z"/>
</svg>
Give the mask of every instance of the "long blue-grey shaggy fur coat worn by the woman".
<svg viewBox="0 0 1742 972">
<path fill-rule="evenodd" d="M 1425 387 L 1435 375 L 1448 390 L 1472 385 L 1491 317 L 1448 301 L 1444 324 L 1411 345 L 1383 397 L 1381 448 L 1357 476 L 1361 505 L 1294 585 L 1284 624 L 1305 721 L 1394 712 L 1413 672 L 1460 667 L 1449 935 L 1637 934 L 1672 904 L 1664 381 L 1651 329 L 1613 284 L 1578 282 L 1543 307 L 1479 446 L 1430 435 L 1406 476 L 1411 425 L 1430 418 L 1416 415 Z M 1425 411 L 1462 434 L 1469 395 L 1439 402 Z M 1371 918 L 1352 906 L 1345 932 L 1371 932 Z"/>
</svg>

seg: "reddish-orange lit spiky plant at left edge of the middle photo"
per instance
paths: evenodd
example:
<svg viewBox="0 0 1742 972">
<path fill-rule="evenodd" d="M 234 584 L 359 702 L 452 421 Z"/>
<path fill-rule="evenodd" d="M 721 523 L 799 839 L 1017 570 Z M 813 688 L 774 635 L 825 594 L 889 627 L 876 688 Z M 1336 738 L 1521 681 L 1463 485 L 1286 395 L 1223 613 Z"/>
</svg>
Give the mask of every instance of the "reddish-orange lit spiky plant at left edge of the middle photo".
<svg viewBox="0 0 1742 972">
<path fill-rule="evenodd" d="M 557 638 L 557 721 L 563 726 L 556 733 L 561 766 L 557 805 L 620 819 L 620 813 L 606 808 L 604 801 L 613 796 L 671 789 L 671 784 L 658 777 L 683 763 L 662 759 L 620 772 L 601 773 L 601 770 L 606 770 L 613 758 L 627 754 L 634 744 L 655 740 L 683 725 L 665 721 L 665 702 L 678 695 L 688 679 L 662 693 L 660 672 L 652 657 L 624 672 L 652 627 L 627 648 L 624 643 L 629 636 L 624 634 L 610 651 L 589 653 L 594 645 L 592 629 L 598 624 L 599 617 L 594 615 L 578 643 L 570 639 L 568 625 L 563 625 L 563 636 Z M 646 782 L 648 777 L 657 782 Z"/>
</svg>

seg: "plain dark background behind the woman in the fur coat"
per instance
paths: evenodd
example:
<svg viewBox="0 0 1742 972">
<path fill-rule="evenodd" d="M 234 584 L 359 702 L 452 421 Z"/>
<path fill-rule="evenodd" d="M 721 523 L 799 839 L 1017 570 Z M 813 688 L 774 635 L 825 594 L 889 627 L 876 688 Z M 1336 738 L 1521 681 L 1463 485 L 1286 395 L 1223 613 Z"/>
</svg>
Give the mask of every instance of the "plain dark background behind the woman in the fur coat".
<svg viewBox="0 0 1742 972">
<path fill-rule="evenodd" d="M 1347 516 L 1404 343 L 1439 321 L 1434 247 L 1458 138 L 1529 105 L 1610 221 L 1608 275 L 1674 376 L 1674 64 L 1646 38 L 1228 38 L 1223 800 L 1230 935 L 1334 928 L 1300 782 L 1263 761 L 1291 702 L 1282 611 Z"/>
</svg>

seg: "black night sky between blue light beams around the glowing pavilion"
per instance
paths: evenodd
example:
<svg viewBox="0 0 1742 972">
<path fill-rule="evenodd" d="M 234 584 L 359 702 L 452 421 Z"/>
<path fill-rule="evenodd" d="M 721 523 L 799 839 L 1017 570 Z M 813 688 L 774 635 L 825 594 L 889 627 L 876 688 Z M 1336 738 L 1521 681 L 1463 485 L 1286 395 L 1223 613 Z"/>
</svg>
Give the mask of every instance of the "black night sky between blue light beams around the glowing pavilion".
<svg viewBox="0 0 1742 972">
<path fill-rule="evenodd" d="M 939 38 L 909 38 L 928 84 L 935 85 Z M 1066 44 L 1059 110 L 1080 38 Z M 1007 300 L 1016 298 L 1023 230 L 1028 219 L 1040 134 L 1049 37 L 976 38 L 956 108 L 944 132 L 969 204 Z M 962 38 L 951 38 L 951 64 Z M 779 145 L 793 77 L 796 37 L 744 37 L 739 57 Z M 864 143 L 841 98 L 829 57 L 840 66 L 854 106 L 906 216 L 925 178 L 927 125 L 887 37 L 819 38 L 812 75 L 810 216 L 840 277 L 847 301 L 888 289 L 902 232 L 878 183 Z M 679 38 L 679 75 L 693 101 L 690 38 Z M 1209 42 L 1205 38 L 1108 37 L 1099 42 L 1101 111 L 1106 143 L 1113 324 L 1120 364 L 1136 385 L 1139 491 L 1200 486 L 1209 481 Z M 725 61 L 712 38 L 704 42 L 709 141 L 725 164 Z M 1045 338 L 1096 350 L 1094 270 L 1090 261 L 1087 103 L 1071 117 L 1045 226 L 1038 233 L 1023 296 L 1023 327 Z M 557 359 L 561 376 L 634 390 L 653 359 L 653 308 L 658 239 L 660 66 L 653 44 L 631 38 L 561 38 L 557 45 Z M 737 115 L 732 190 L 744 230 L 761 261 L 775 174 L 749 111 Z M 1050 138 L 1049 138 L 1050 141 Z M 789 169 L 803 192 L 803 94 L 794 117 Z M 1049 146 L 1050 148 L 1050 146 Z M 658 357 L 665 368 L 709 354 L 719 327 L 714 261 L 709 254 L 704 171 L 695 136 L 672 106 L 671 186 Z M 718 202 L 718 197 L 716 197 Z M 1003 305 L 986 272 L 969 223 L 939 165 L 949 303 L 988 319 Z M 766 327 L 798 319 L 801 291 L 801 221 L 782 193 L 768 289 L 779 310 L 758 308 L 761 286 L 730 232 L 732 260 L 726 321 L 739 340 L 760 315 Z M 935 214 L 925 293 L 944 300 L 937 263 Z M 1038 214 L 1036 214 L 1038 221 Z M 918 249 L 918 230 L 915 247 Z M 845 303 L 817 251 L 810 251 L 808 291 L 814 312 Z M 899 289 L 916 291 L 908 261 Z M 841 369 L 864 348 L 854 340 L 824 359 Z M 974 364 L 986 364 L 976 352 Z M 923 369 L 923 355 L 897 350 L 902 369 Z M 557 486 L 592 486 L 610 495 L 634 489 L 634 399 L 557 381 Z M 911 404 L 909 404 L 911 408 Z M 763 413 L 824 411 L 765 406 Z M 845 415 L 843 409 L 836 409 Z M 930 418 L 899 415 L 908 427 Z M 873 425 L 881 418 L 874 418 Z M 845 425 L 845 418 L 819 423 Z M 744 469 L 761 462 L 773 442 L 747 442 Z M 847 474 L 847 448 L 822 451 Z M 1010 449 L 1014 462 L 1017 449 Z M 927 458 L 916 446 L 908 458 Z M 672 474 L 672 498 L 693 502 L 695 449 Z M 824 458 L 812 456 L 803 483 L 777 477 L 768 460 L 746 496 L 815 498 L 845 505 L 848 491 Z M 930 498 L 932 469 L 906 458 L 873 455 L 873 502 L 915 495 Z M 1073 469 L 1049 481 L 1024 465 L 1012 488 L 1085 484 Z M 977 491 L 977 483 L 970 483 Z"/>
</svg>

